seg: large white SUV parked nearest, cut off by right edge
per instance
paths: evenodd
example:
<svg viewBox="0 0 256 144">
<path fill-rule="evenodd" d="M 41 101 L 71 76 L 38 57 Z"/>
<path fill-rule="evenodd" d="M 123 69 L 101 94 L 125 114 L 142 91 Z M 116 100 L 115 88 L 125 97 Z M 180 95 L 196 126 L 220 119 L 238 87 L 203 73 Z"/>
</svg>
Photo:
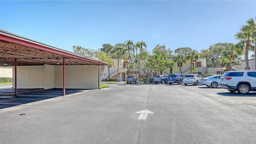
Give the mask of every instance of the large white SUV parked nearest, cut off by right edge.
<svg viewBox="0 0 256 144">
<path fill-rule="evenodd" d="M 256 70 L 233 70 L 223 74 L 220 80 L 220 88 L 231 92 L 246 94 L 256 91 Z"/>
</svg>

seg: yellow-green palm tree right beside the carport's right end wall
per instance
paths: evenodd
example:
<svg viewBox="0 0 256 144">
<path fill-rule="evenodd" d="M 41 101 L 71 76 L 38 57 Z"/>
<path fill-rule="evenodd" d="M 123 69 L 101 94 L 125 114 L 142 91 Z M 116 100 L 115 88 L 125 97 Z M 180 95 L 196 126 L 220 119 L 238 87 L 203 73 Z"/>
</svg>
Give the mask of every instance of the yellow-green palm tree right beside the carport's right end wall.
<svg viewBox="0 0 256 144">
<path fill-rule="evenodd" d="M 108 56 L 105 52 L 99 53 L 98 54 L 98 58 L 99 58 L 99 60 L 101 60 L 103 62 L 107 62 L 108 63 L 108 67 L 114 66 L 116 68 L 114 60 L 112 60 L 110 58 L 110 56 Z M 99 76 L 100 76 L 99 82 L 101 82 L 102 81 L 102 76 L 103 76 L 103 74 L 105 72 L 105 66 L 99 66 L 99 68 L 100 68 L 100 70 L 99 70 L 99 73 L 100 73 L 99 74 Z"/>
</svg>

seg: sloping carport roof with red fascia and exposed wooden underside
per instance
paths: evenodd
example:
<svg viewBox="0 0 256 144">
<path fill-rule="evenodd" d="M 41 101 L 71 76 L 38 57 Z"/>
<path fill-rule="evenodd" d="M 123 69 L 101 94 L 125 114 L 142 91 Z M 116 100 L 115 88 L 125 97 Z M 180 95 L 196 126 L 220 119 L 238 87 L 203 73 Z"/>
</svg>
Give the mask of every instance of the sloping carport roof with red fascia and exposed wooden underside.
<svg viewBox="0 0 256 144">
<path fill-rule="evenodd" d="M 14 66 L 15 59 L 17 59 L 17 66 L 62 65 L 63 59 L 65 59 L 65 65 L 107 65 L 94 58 L 0 29 L 0 66 Z"/>
</svg>

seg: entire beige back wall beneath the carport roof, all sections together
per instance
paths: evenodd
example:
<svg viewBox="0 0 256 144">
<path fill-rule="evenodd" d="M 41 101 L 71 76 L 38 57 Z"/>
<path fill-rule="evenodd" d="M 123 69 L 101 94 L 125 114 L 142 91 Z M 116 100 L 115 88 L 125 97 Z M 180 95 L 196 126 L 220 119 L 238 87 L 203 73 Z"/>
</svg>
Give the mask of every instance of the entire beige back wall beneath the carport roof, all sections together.
<svg viewBox="0 0 256 144">
<path fill-rule="evenodd" d="M 65 75 L 66 88 L 99 88 L 98 65 L 66 65 Z M 63 88 L 63 66 L 17 66 L 17 88 Z"/>
</svg>

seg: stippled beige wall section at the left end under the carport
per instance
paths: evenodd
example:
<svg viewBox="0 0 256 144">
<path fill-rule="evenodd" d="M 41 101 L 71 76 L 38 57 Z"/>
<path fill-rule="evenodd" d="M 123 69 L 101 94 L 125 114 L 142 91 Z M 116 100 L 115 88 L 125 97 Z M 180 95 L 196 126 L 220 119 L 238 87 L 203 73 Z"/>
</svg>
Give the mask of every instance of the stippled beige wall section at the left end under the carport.
<svg viewBox="0 0 256 144">
<path fill-rule="evenodd" d="M 13 69 L 15 78 L 15 68 Z M 44 88 L 44 82 L 44 66 L 17 66 L 17 88 Z"/>
</svg>

